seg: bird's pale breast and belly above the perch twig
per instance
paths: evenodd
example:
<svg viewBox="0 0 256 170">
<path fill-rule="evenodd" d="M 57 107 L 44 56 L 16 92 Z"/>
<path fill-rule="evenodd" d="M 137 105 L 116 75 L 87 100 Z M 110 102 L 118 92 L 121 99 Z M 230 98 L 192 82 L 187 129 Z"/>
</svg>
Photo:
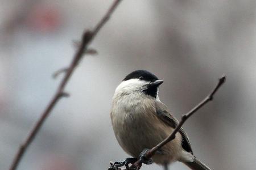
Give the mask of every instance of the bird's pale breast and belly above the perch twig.
<svg viewBox="0 0 256 170">
<path fill-rule="evenodd" d="M 138 157 L 144 148 L 151 148 L 167 137 L 170 127 L 160 122 L 155 112 L 154 99 L 127 96 L 113 101 L 115 137 L 128 154 Z"/>
</svg>

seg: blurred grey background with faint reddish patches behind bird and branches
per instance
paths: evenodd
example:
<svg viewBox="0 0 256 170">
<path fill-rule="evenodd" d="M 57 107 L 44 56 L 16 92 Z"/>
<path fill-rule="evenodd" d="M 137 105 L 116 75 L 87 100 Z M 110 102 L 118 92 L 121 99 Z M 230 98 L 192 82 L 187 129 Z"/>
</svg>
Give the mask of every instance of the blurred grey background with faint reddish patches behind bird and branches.
<svg viewBox="0 0 256 170">
<path fill-rule="evenodd" d="M 51 75 L 71 61 L 72 41 L 112 2 L 0 1 L 0 169 L 9 168 L 56 91 L 61 76 Z M 212 169 L 255 169 L 255 7 L 254 0 L 123 1 L 91 45 L 98 56 L 80 63 L 66 90 L 71 97 L 57 104 L 18 169 L 106 169 L 127 158 L 109 111 L 115 87 L 136 69 L 164 80 L 160 99 L 177 118 L 226 74 L 214 101 L 184 128 Z"/>
</svg>

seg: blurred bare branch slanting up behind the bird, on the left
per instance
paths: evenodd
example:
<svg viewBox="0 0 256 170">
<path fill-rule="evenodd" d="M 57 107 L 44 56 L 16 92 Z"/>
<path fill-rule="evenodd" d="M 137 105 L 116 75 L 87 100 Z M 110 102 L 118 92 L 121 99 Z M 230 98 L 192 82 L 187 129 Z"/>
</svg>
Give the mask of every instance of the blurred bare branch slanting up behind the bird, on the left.
<svg viewBox="0 0 256 170">
<path fill-rule="evenodd" d="M 67 93 L 64 92 L 64 88 L 66 84 L 68 83 L 69 78 L 71 78 L 71 75 L 73 74 L 73 71 L 75 70 L 77 64 L 80 62 L 82 56 L 84 55 L 84 52 L 88 49 L 88 46 L 90 42 L 94 39 L 94 37 L 97 35 L 97 33 L 100 31 L 100 29 L 105 25 L 106 22 L 110 19 L 110 16 L 113 14 L 115 8 L 117 8 L 118 4 L 122 0 L 115 0 L 112 4 L 112 6 L 109 8 L 109 10 L 106 12 L 106 14 L 103 16 L 103 18 L 98 22 L 96 27 L 90 31 L 87 30 L 82 35 L 81 44 L 79 46 L 79 49 L 77 50 L 75 56 L 73 57 L 73 60 L 71 64 L 69 65 L 67 71 L 65 72 L 65 76 L 63 80 L 61 81 L 59 88 L 57 88 L 57 91 L 55 95 L 53 96 L 52 100 L 49 102 L 46 110 L 42 113 L 42 116 L 39 118 L 39 120 L 36 122 L 34 128 L 32 128 L 31 132 L 28 134 L 26 140 L 23 142 L 22 145 L 20 145 L 18 152 L 15 155 L 15 158 L 13 159 L 13 162 L 11 164 L 10 170 L 14 170 L 18 167 L 18 164 L 20 160 L 22 159 L 22 156 L 24 155 L 24 152 L 26 152 L 28 146 L 31 144 L 33 139 L 35 138 L 36 134 L 42 127 L 44 121 L 48 117 L 49 113 L 52 111 L 52 109 L 57 104 L 57 101 L 59 101 L 62 97 L 67 97 Z"/>
</svg>

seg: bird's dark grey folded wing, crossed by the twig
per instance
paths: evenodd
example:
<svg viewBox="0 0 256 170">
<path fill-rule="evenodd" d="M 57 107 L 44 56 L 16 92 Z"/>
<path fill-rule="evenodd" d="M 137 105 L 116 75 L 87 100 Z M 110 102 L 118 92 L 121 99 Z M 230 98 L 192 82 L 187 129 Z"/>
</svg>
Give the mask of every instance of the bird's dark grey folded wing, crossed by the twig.
<svg viewBox="0 0 256 170">
<path fill-rule="evenodd" d="M 171 126 L 172 128 L 176 128 L 177 124 L 179 124 L 179 121 L 177 121 L 177 119 L 172 116 L 172 114 L 168 111 L 168 107 L 164 105 L 161 101 L 155 101 L 155 107 L 156 114 L 160 118 L 160 120 L 162 120 L 164 123 Z M 181 146 L 185 151 L 191 152 L 191 154 L 193 154 L 187 133 L 185 133 L 183 128 L 180 128 L 179 132 L 182 137 Z"/>
</svg>

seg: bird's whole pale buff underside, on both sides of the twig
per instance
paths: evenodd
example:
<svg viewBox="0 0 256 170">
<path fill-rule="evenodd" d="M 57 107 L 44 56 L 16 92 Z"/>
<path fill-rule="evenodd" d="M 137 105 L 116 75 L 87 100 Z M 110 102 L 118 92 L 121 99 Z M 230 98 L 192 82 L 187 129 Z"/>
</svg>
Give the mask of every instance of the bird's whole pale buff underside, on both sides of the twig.
<svg viewBox="0 0 256 170">
<path fill-rule="evenodd" d="M 148 96 L 117 92 L 113 97 L 111 119 L 115 137 L 123 150 L 135 158 L 138 158 L 144 148 L 152 148 L 163 141 L 173 130 L 157 117 L 154 100 Z M 163 154 L 153 156 L 155 163 L 182 160 L 184 151 L 181 147 L 181 135 L 177 133 L 176 138 L 162 148 L 162 152 Z"/>
</svg>

